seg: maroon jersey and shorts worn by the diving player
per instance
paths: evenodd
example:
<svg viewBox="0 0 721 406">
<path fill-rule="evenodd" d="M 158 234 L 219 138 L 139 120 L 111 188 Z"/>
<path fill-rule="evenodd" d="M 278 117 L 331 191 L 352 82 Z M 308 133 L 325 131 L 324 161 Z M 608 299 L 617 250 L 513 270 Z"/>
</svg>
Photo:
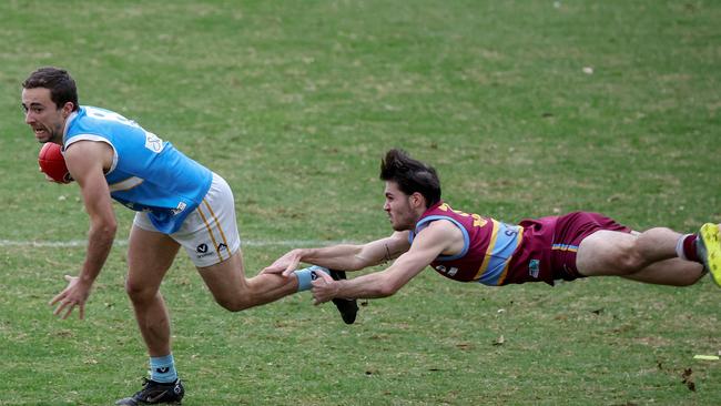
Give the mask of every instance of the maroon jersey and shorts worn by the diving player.
<svg viewBox="0 0 721 406">
<path fill-rule="evenodd" d="M 511 283 L 572 281 L 582 275 L 576 267 L 581 241 L 599 230 L 631 230 L 597 213 L 573 212 L 560 216 L 524 220 L 520 225 L 468 214 L 439 202 L 416 222 L 408 241 L 437 220 L 454 223 L 464 235 L 456 255 L 439 255 L 430 266 L 460 282 L 499 286 Z"/>
</svg>

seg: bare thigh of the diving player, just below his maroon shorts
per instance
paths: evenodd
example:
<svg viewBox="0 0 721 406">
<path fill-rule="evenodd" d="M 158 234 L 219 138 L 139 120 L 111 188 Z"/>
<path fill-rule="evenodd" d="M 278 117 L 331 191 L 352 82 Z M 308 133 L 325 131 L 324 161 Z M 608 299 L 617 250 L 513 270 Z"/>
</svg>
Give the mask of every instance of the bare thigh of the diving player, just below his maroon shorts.
<svg viewBox="0 0 721 406">
<path fill-rule="evenodd" d="M 586 276 L 624 275 L 637 233 L 599 230 L 581 241 L 576 254 L 578 272 Z"/>
</svg>

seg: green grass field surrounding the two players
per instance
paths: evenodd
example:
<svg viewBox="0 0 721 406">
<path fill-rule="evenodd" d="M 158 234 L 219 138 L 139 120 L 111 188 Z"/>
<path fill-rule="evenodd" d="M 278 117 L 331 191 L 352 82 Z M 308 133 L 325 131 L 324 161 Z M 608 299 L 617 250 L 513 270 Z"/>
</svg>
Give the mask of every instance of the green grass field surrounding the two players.
<svg viewBox="0 0 721 406">
<path fill-rule="evenodd" d="M 719 21 L 711 0 L 0 2 L 0 405 L 112 404 L 148 362 L 130 211 L 87 319 L 47 305 L 88 220 L 77 186 L 38 173 L 20 110 L 35 68 L 222 174 L 254 275 L 294 244 L 387 235 L 392 146 L 506 222 L 721 221 Z M 721 362 L 693 359 L 721 351 L 708 278 L 488 288 L 428 270 L 353 326 L 307 293 L 224 312 L 184 255 L 162 291 L 184 405 L 721 404 Z"/>
</svg>

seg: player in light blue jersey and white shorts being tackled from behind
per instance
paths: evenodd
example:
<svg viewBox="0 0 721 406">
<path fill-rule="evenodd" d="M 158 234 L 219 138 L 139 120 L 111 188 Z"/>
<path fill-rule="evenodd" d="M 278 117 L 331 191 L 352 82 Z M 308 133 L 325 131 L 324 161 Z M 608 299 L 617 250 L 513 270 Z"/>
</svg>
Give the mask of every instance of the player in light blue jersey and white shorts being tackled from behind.
<svg viewBox="0 0 721 406">
<path fill-rule="evenodd" d="M 138 123 L 104 109 L 80 105 L 74 80 L 62 69 L 41 68 L 22 83 L 26 123 L 40 143 L 62 145 L 90 217 L 85 260 L 78 276 L 54 296 L 54 314 L 80 318 L 93 282 L 110 253 L 118 223 L 115 200 L 136 211 L 128 247 L 125 291 L 150 356 L 150 379 L 118 405 L 180 403 L 184 388 L 171 351 L 170 316 L 159 288 L 183 247 L 215 301 L 231 312 L 309 290 L 315 270 L 285 277 L 246 278 L 233 193 L 211 170 Z M 343 278 L 342 272 L 331 276 Z M 337 301 L 353 323 L 355 301 Z"/>
</svg>

